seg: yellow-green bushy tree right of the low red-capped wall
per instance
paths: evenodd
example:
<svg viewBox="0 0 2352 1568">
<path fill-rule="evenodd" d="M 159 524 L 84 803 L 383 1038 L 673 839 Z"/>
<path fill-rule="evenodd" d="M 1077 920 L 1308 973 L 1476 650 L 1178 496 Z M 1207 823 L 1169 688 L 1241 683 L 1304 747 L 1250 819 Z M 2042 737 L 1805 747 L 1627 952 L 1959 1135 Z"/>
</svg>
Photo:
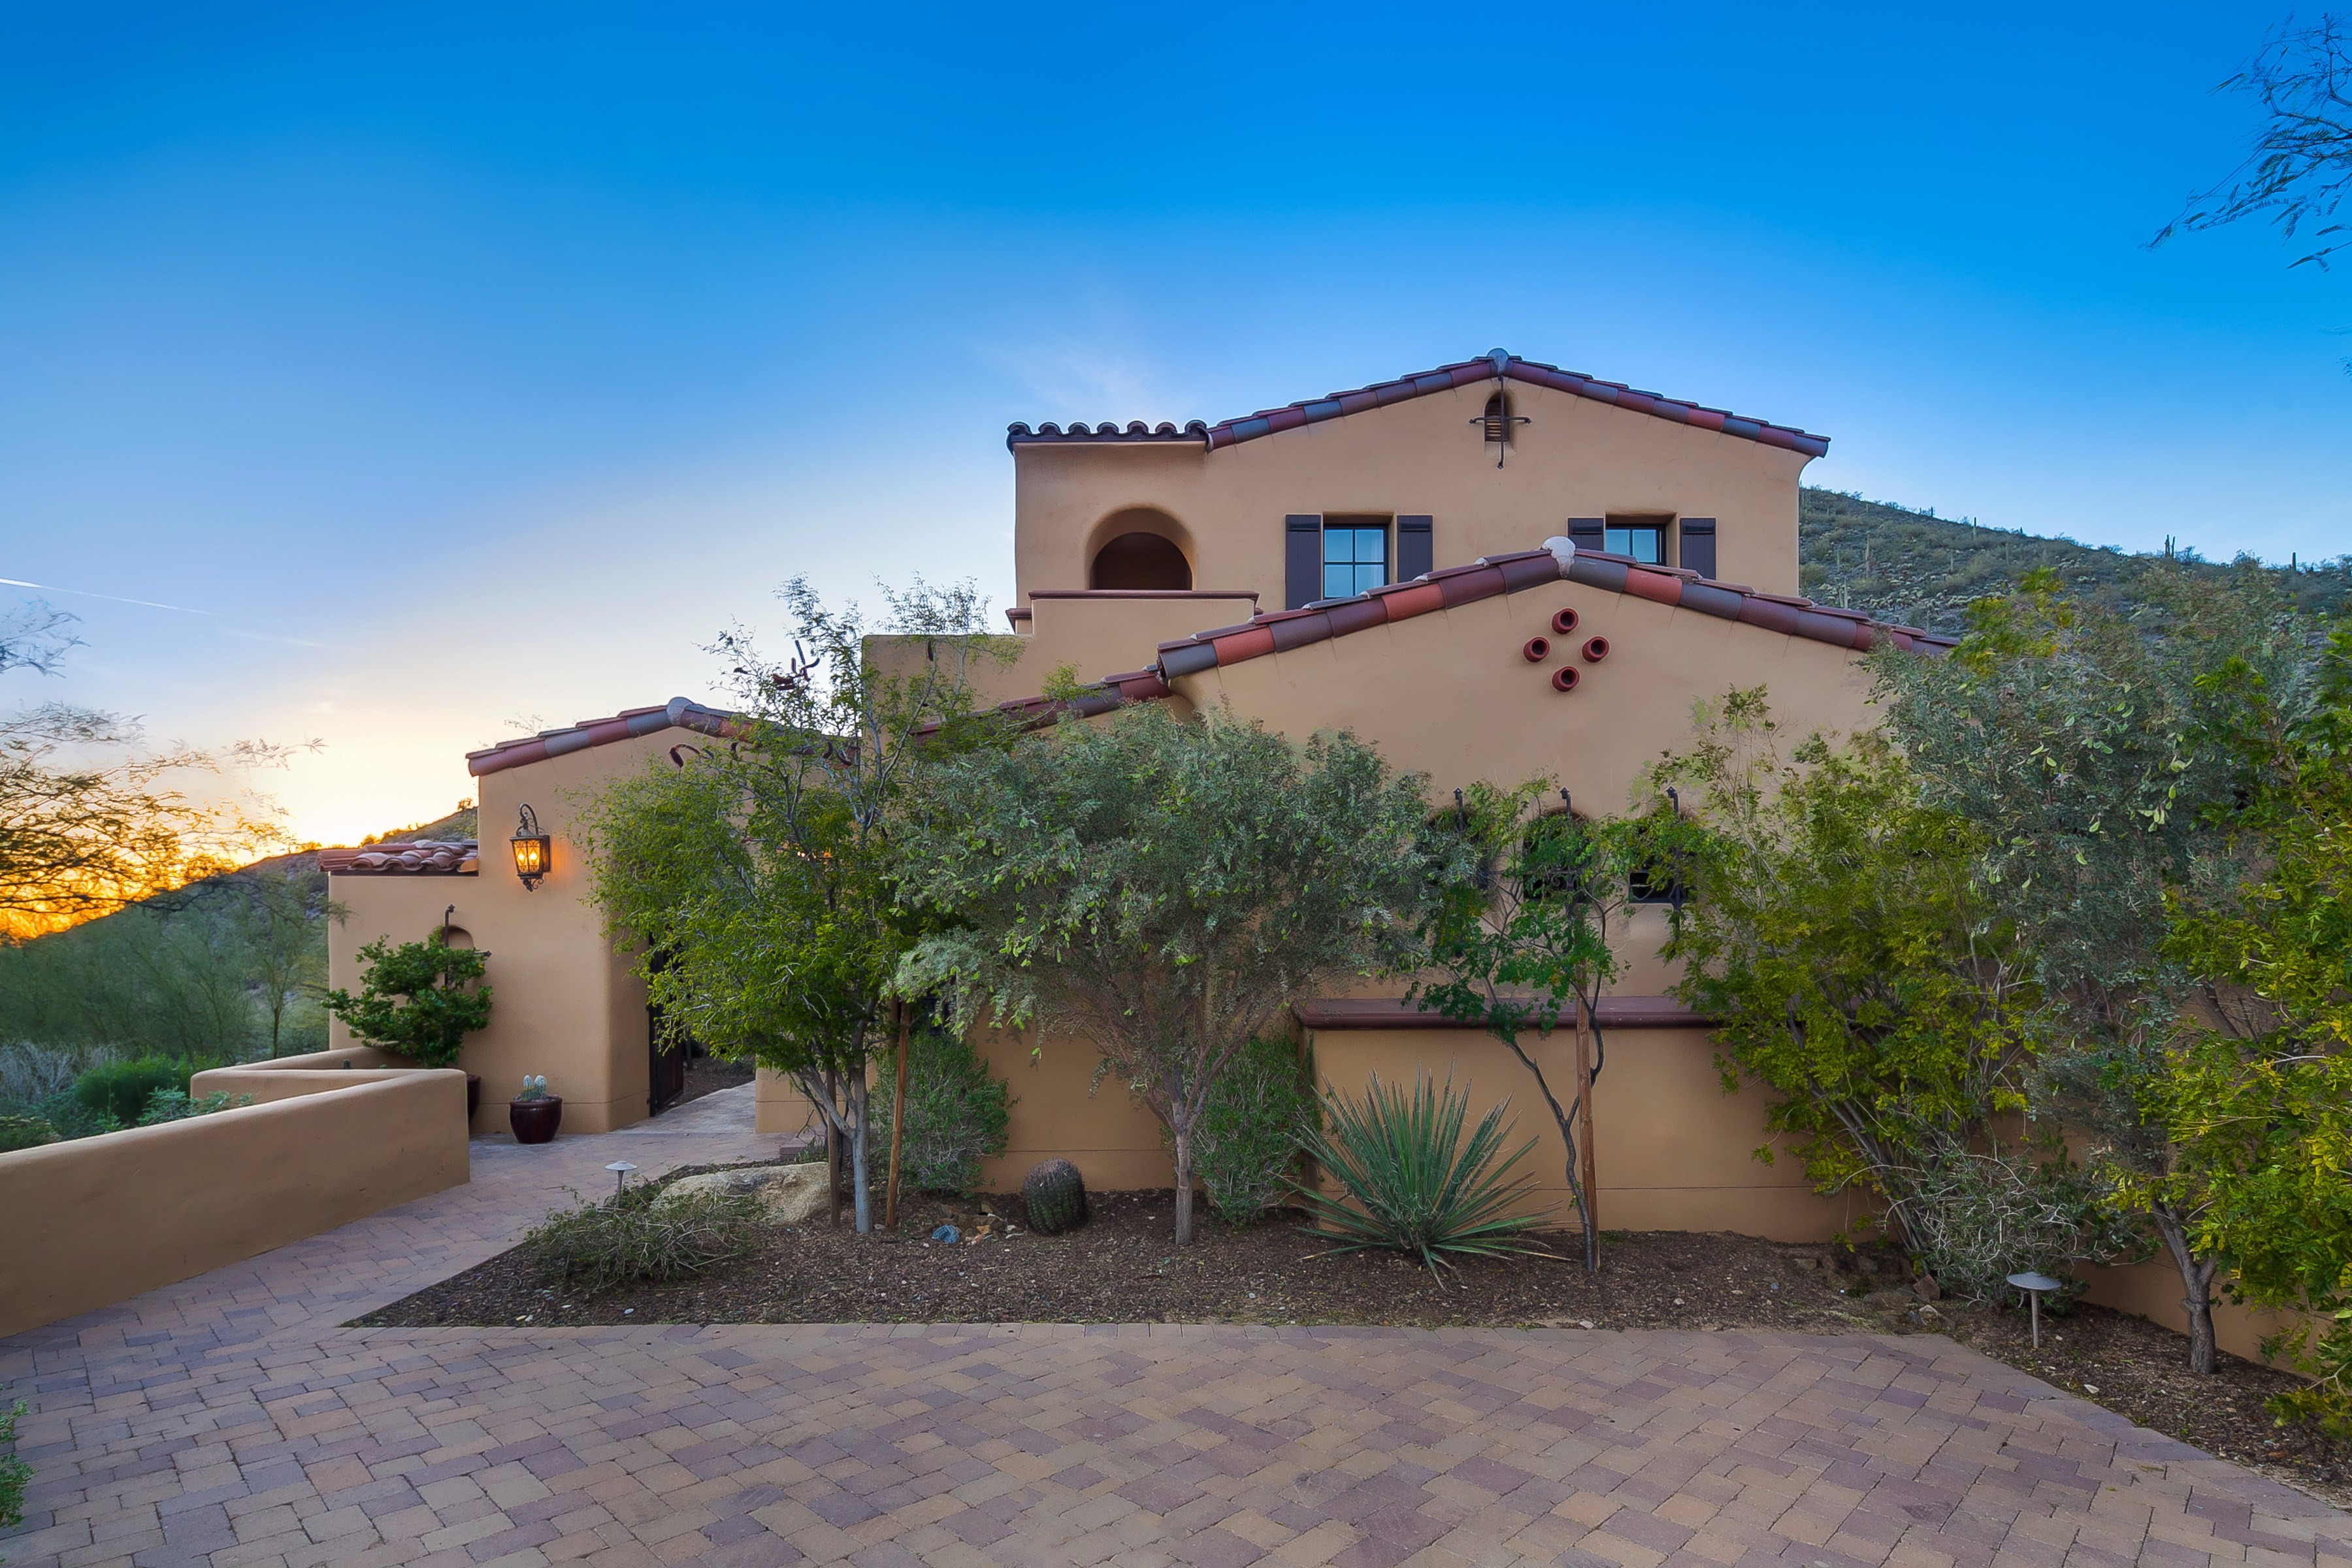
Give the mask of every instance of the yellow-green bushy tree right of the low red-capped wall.
<svg viewBox="0 0 2352 1568">
<path fill-rule="evenodd" d="M 1783 759 L 1762 689 L 1703 708 L 1698 743 L 1656 778 L 1691 792 L 1703 827 L 1668 943 L 1677 994 L 1719 1020 L 1724 1091 L 1778 1095 L 1766 1126 L 1816 1190 L 1875 1194 L 1933 1265 L 1940 1197 L 2044 1182 L 2042 1159 L 1999 1140 L 2027 1110 L 2042 994 L 1978 893 L 1971 825 L 1922 804 L 1875 731 Z"/>
</svg>

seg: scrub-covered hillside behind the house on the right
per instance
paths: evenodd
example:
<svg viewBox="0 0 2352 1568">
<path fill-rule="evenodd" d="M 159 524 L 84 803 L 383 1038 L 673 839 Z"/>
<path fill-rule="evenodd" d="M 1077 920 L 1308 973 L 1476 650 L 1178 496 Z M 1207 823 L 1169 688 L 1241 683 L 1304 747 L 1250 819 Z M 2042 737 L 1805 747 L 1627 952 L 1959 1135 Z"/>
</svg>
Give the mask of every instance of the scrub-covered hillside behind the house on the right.
<svg viewBox="0 0 2352 1568">
<path fill-rule="evenodd" d="M 2082 597 L 2124 609 L 2138 602 L 2143 576 L 2166 559 L 2216 578 L 2265 571 L 2298 607 L 2319 614 L 2340 614 L 2352 604 L 2352 555 L 2296 567 L 2220 564 L 2194 550 L 2126 555 L 2112 545 L 1987 529 L 1835 489 L 1799 491 L 1797 559 L 1806 597 L 1931 632 L 1962 630 L 1969 599 L 2002 592 L 2034 567 L 2056 569 Z"/>
</svg>

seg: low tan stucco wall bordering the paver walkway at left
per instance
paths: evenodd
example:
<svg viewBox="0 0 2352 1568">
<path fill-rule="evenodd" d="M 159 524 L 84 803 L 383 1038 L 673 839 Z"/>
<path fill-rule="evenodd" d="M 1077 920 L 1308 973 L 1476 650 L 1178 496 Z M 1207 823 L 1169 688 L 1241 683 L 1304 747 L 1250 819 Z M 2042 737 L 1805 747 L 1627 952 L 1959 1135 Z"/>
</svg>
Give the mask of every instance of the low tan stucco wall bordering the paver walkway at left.
<svg viewBox="0 0 2352 1568">
<path fill-rule="evenodd" d="M 202 1072 L 254 1105 L 0 1154 L 0 1335 L 463 1185 L 466 1074 L 362 1056 Z"/>
</svg>

